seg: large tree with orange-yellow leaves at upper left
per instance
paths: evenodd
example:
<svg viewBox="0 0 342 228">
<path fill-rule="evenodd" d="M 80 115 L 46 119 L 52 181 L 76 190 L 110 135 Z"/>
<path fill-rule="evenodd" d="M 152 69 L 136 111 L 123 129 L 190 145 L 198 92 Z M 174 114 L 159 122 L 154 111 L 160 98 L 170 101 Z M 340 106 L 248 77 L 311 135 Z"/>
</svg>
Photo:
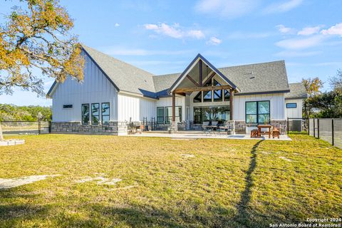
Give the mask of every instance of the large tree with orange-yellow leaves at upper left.
<svg viewBox="0 0 342 228">
<path fill-rule="evenodd" d="M 0 94 L 19 87 L 43 95 L 46 76 L 82 81 L 84 58 L 66 9 L 58 0 L 19 2 L 0 25 Z"/>
</svg>

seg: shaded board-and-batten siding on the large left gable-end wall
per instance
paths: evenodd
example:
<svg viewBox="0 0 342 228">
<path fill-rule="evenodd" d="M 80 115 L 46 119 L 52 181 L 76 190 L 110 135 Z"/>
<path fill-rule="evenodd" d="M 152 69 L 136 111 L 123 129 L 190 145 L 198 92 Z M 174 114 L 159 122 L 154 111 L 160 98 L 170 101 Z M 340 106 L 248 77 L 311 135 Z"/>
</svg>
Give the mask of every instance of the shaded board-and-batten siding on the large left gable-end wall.
<svg viewBox="0 0 342 228">
<path fill-rule="evenodd" d="M 117 119 L 117 91 L 100 69 L 84 55 L 86 63 L 81 83 L 66 78 L 59 83 L 52 97 L 53 122 L 81 122 L 81 105 L 84 103 L 110 103 L 110 121 Z M 63 108 L 73 105 L 73 108 Z"/>
</svg>

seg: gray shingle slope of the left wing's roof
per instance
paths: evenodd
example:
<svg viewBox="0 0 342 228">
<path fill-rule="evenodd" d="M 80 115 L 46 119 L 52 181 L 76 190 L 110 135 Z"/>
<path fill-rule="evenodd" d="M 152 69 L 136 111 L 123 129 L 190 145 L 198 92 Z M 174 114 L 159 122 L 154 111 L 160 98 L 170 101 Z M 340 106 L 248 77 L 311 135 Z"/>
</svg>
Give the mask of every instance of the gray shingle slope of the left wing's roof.
<svg viewBox="0 0 342 228">
<path fill-rule="evenodd" d="M 152 73 L 108 56 L 88 46 L 82 46 L 119 90 L 154 96 L 155 86 Z"/>
</svg>

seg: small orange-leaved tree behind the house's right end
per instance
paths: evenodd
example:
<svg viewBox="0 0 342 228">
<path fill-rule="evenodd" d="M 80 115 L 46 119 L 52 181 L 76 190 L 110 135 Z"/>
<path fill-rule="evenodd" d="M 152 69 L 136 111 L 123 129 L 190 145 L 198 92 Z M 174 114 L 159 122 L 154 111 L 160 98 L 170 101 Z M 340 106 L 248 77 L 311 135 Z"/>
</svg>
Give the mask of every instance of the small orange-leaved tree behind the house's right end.
<svg viewBox="0 0 342 228">
<path fill-rule="evenodd" d="M 320 88 L 323 87 L 323 82 L 318 78 L 302 78 L 301 83 L 304 84 L 308 98 L 304 100 L 304 118 L 310 118 L 314 107 L 311 106 L 309 100 L 321 93 Z"/>
</svg>

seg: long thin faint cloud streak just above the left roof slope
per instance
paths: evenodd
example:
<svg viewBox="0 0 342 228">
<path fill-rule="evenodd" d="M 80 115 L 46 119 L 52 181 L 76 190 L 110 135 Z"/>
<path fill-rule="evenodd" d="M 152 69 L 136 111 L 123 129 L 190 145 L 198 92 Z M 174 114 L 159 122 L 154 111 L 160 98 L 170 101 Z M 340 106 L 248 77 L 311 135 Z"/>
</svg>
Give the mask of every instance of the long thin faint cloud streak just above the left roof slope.
<svg viewBox="0 0 342 228">
<path fill-rule="evenodd" d="M 192 50 L 168 51 L 168 50 L 147 50 L 142 48 L 123 48 L 121 46 L 107 46 L 99 48 L 103 53 L 110 56 L 170 56 L 193 53 Z"/>
</svg>

